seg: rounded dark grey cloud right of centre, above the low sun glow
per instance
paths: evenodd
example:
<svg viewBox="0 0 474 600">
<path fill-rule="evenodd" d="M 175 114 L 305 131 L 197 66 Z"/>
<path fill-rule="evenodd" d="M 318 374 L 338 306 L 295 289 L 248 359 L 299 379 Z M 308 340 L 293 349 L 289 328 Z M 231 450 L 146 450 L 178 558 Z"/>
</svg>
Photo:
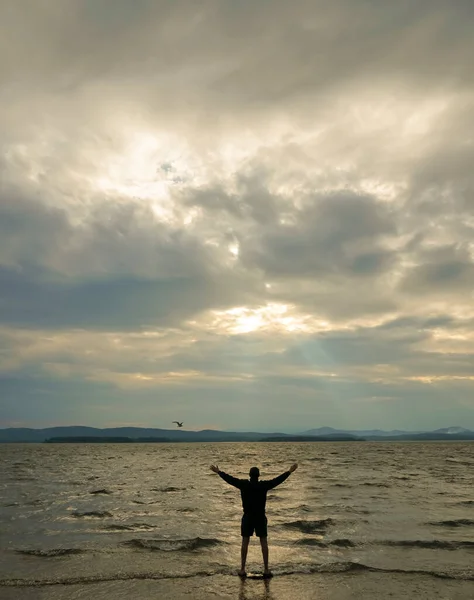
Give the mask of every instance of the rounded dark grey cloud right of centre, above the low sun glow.
<svg viewBox="0 0 474 600">
<path fill-rule="evenodd" d="M 242 260 L 269 278 L 373 275 L 393 264 L 383 238 L 395 234 L 394 216 L 374 198 L 347 192 L 313 196 L 294 213 L 293 223 L 270 225 L 253 240 L 243 239 Z"/>
</svg>

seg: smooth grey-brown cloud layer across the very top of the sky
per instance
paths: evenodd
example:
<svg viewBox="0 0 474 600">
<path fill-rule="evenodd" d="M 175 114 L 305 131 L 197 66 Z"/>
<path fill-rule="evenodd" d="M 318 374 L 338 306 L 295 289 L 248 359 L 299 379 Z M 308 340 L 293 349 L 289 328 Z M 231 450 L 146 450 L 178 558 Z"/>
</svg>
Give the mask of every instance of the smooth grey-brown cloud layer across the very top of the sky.
<svg viewBox="0 0 474 600">
<path fill-rule="evenodd" d="M 157 92 L 163 82 L 178 87 L 174 72 L 193 68 L 211 73 L 212 95 L 234 106 L 281 103 L 361 78 L 435 86 L 472 81 L 469 0 L 210 0 L 199 7 L 179 0 L 8 0 L 3 6 L 0 64 L 4 76 L 20 81 L 67 85 L 143 74 Z M 14 56 L 7 52 L 12 47 Z M 202 80 L 192 87 L 209 94 Z"/>
</svg>

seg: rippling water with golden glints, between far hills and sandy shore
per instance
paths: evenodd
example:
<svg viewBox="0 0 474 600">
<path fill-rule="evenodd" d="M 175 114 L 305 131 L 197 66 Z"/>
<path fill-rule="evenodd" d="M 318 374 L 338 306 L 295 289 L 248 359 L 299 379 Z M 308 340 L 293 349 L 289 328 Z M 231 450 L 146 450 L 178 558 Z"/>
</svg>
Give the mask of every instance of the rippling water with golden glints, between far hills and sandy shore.
<svg viewBox="0 0 474 600">
<path fill-rule="evenodd" d="M 27 590 L 60 586 L 62 595 L 54 596 L 59 598 L 66 597 L 64 586 L 89 586 L 90 596 L 74 597 L 97 598 L 90 586 L 98 583 L 235 574 L 240 497 L 209 470 L 214 463 L 238 477 L 257 465 L 265 479 L 299 462 L 268 495 L 270 566 L 276 576 L 348 578 L 366 571 L 471 581 L 473 448 L 470 443 L 0 445 L 0 595 L 3 590 L 9 598 L 26 598 Z M 261 569 L 253 539 L 248 570 Z"/>
</svg>

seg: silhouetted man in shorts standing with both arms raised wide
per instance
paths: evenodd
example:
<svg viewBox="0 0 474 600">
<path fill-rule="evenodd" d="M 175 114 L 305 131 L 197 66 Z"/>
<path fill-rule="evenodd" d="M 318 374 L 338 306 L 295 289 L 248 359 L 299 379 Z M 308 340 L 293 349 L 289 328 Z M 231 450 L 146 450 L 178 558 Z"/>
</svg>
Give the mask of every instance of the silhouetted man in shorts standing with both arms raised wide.
<svg viewBox="0 0 474 600">
<path fill-rule="evenodd" d="M 250 536 L 255 535 L 260 538 L 263 556 L 263 576 L 271 577 L 272 573 L 268 568 L 268 542 L 267 542 L 267 517 L 265 515 L 265 504 L 267 502 L 267 492 L 273 489 L 280 483 L 283 483 L 293 471 L 298 468 L 298 463 L 290 467 L 288 471 L 282 473 L 269 481 L 260 481 L 260 471 L 258 467 L 252 467 L 249 471 L 250 479 L 237 479 L 219 470 L 217 465 L 211 465 L 211 471 L 217 473 L 224 481 L 230 483 L 240 490 L 242 498 L 242 507 L 244 515 L 241 523 L 242 548 L 241 548 L 241 565 L 239 575 L 246 576 L 245 563 L 247 562 L 247 550 L 249 547 Z"/>
</svg>

